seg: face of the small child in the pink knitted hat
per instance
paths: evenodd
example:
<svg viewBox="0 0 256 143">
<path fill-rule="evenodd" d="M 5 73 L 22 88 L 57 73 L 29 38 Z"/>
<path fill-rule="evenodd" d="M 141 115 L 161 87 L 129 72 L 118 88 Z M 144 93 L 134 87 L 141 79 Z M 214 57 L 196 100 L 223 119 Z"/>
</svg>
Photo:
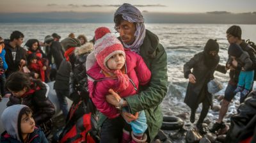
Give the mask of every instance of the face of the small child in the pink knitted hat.
<svg viewBox="0 0 256 143">
<path fill-rule="evenodd" d="M 107 61 L 107 66 L 110 70 L 121 70 L 124 66 L 125 59 L 123 54 L 115 54 Z"/>
</svg>

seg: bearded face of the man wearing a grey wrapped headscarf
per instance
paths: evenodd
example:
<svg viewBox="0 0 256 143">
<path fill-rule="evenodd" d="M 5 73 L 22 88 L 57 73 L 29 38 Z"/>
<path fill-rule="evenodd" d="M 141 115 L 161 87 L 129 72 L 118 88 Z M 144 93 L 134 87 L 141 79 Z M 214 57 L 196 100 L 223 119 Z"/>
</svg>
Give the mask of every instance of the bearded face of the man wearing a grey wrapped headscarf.
<svg viewBox="0 0 256 143">
<path fill-rule="evenodd" d="M 136 25 L 127 20 L 122 20 L 120 25 L 116 26 L 116 29 L 120 34 L 121 40 L 127 45 L 132 45 L 135 41 L 134 33 L 136 31 Z"/>
</svg>

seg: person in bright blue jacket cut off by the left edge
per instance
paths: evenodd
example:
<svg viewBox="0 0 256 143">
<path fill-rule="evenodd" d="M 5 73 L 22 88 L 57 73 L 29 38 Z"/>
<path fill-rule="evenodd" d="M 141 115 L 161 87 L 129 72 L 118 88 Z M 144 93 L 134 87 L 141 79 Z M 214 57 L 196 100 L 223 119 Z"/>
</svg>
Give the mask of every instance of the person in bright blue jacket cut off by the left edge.
<svg viewBox="0 0 256 143">
<path fill-rule="evenodd" d="M 5 90 L 4 90 L 5 75 L 4 75 L 4 72 L 7 70 L 7 68 L 8 68 L 8 65 L 5 61 L 4 40 L 3 40 L 3 38 L 0 37 L 0 90 L 1 90 L 0 100 L 1 100 L 1 96 L 4 96 L 4 94 L 5 94 Z"/>
</svg>

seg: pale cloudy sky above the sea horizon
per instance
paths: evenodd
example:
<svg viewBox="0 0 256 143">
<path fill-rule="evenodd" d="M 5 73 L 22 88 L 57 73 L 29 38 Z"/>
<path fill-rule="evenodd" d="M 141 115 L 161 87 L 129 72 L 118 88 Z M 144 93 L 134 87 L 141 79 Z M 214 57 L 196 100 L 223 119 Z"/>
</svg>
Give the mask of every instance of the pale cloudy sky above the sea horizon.
<svg viewBox="0 0 256 143">
<path fill-rule="evenodd" d="M 122 3 L 136 5 L 141 11 L 164 13 L 204 13 L 256 11 L 255 0 L 1 0 L 0 13 L 36 13 L 51 11 L 115 11 Z"/>
</svg>

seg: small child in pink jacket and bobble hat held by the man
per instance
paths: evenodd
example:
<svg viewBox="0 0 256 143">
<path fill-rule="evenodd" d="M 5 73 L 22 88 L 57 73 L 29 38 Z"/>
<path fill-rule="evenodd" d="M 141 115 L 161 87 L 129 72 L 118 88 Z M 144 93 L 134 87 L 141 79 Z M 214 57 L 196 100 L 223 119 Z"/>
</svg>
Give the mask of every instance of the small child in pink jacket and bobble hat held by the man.
<svg viewBox="0 0 256 143">
<path fill-rule="evenodd" d="M 129 112 L 128 107 L 119 110 L 106 102 L 105 96 L 113 89 L 121 98 L 138 93 L 138 86 L 149 82 L 151 73 L 142 57 L 130 50 L 124 50 L 122 43 L 113 36 L 106 27 L 95 30 L 94 54 L 97 62 L 87 71 L 90 97 L 97 109 L 109 120 L 120 116 L 121 112 Z M 123 100 L 124 101 L 124 100 Z M 122 109 L 121 109 L 122 108 Z M 123 129 L 122 142 L 145 142 L 147 135 L 147 119 L 144 110 L 138 114 L 138 119 L 132 121 L 132 140 L 129 132 Z"/>
</svg>

